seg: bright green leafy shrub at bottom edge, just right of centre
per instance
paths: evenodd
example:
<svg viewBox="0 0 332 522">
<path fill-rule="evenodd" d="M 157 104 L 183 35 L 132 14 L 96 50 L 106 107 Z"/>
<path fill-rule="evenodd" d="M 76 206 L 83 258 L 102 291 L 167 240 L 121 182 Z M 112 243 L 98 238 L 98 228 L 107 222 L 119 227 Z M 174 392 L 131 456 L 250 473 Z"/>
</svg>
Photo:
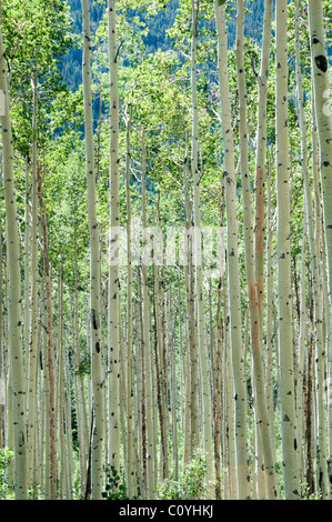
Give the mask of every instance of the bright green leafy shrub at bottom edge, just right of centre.
<svg viewBox="0 0 332 522">
<path fill-rule="evenodd" d="M 198 500 L 208 493 L 207 453 L 197 448 L 193 458 L 184 466 L 182 476 L 175 480 L 164 480 L 159 484 L 159 500 Z"/>
</svg>

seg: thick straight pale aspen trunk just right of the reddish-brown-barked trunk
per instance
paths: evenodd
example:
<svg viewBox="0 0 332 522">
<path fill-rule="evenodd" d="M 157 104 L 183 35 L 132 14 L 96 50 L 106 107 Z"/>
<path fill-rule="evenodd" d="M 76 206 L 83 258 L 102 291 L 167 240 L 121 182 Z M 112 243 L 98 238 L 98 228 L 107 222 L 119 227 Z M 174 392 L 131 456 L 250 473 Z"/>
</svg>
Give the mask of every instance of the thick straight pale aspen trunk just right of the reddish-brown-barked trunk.
<svg viewBox="0 0 332 522">
<path fill-rule="evenodd" d="M 275 7 L 275 131 L 276 131 L 276 198 L 278 198 L 278 298 L 280 405 L 284 494 L 299 498 L 296 415 L 292 339 L 290 174 L 288 130 L 288 2 L 276 0 Z"/>
</svg>

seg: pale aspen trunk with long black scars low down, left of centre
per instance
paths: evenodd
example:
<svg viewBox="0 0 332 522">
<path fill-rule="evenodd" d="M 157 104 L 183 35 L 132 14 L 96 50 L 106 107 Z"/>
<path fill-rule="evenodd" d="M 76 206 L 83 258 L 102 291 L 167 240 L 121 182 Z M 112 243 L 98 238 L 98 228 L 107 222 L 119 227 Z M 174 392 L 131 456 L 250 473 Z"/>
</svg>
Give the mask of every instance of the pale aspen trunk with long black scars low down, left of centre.
<svg viewBox="0 0 332 522">
<path fill-rule="evenodd" d="M 102 352 L 100 331 L 100 255 L 99 255 L 99 224 L 95 208 L 94 180 L 94 149 L 93 149 L 93 119 L 91 97 L 91 34 L 89 0 L 82 0 L 83 22 L 83 98 L 84 98 L 84 132 L 85 132 L 85 167 L 88 190 L 88 221 L 90 235 L 90 332 L 89 344 L 91 349 L 91 375 L 93 394 L 93 431 L 92 431 L 92 460 L 91 484 L 92 499 L 101 498 L 102 448 L 103 448 L 103 389 Z"/>
</svg>

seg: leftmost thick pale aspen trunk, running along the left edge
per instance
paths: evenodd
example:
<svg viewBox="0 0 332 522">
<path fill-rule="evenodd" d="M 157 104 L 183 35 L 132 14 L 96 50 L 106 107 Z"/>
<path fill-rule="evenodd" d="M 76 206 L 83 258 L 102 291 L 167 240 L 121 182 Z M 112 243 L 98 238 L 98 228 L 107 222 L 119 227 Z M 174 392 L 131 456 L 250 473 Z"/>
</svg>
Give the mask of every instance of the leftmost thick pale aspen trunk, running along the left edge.
<svg viewBox="0 0 332 522">
<path fill-rule="evenodd" d="M 0 2 L 2 27 L 2 2 Z M 27 475 L 27 410 L 26 375 L 22 344 L 21 311 L 21 268 L 19 253 L 19 232 L 13 180 L 13 143 L 10 117 L 10 92 L 7 79 L 7 61 L 0 27 L 0 89 L 4 93 L 4 114 L 0 117 L 2 130 L 3 191 L 6 210 L 6 237 L 8 260 L 8 340 L 9 364 L 12 380 L 12 394 L 9 403 L 12 408 L 14 438 L 14 494 L 17 500 L 26 500 L 28 494 Z"/>
</svg>

